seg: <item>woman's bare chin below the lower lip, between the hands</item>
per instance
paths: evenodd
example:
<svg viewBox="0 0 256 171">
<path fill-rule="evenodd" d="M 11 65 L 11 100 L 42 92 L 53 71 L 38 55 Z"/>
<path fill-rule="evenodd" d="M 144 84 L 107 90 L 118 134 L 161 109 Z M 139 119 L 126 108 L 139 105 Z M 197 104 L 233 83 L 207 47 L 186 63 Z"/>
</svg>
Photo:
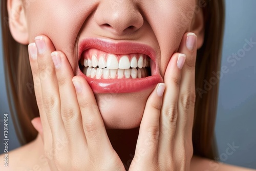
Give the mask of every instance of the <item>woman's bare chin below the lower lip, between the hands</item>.
<svg viewBox="0 0 256 171">
<path fill-rule="evenodd" d="M 106 129 L 133 129 L 140 125 L 148 96 L 154 88 L 135 93 L 95 94 Z"/>
</svg>

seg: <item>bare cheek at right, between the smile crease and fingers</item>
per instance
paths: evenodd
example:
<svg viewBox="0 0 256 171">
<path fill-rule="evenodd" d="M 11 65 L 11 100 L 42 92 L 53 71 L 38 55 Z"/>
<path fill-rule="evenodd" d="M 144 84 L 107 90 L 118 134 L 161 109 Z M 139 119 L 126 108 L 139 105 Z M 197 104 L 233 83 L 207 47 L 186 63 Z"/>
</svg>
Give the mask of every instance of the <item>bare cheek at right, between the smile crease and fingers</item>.
<svg viewBox="0 0 256 171">
<path fill-rule="evenodd" d="M 158 63 L 162 76 L 170 57 L 178 51 L 182 36 L 189 31 L 195 7 L 195 2 L 186 0 L 166 1 L 165 3 L 165 8 L 156 6 L 154 10 L 157 12 L 150 16 L 150 25 L 154 30 L 161 52 Z"/>
</svg>

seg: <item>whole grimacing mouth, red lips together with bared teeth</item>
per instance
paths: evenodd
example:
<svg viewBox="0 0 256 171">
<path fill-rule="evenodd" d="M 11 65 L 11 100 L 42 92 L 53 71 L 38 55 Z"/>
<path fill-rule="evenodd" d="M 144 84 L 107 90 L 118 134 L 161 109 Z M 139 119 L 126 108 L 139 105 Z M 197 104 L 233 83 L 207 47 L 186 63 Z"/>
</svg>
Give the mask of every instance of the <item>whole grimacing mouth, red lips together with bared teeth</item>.
<svg viewBox="0 0 256 171">
<path fill-rule="evenodd" d="M 151 47 L 134 42 L 85 39 L 78 46 L 79 70 L 94 93 L 133 93 L 163 82 Z"/>
</svg>

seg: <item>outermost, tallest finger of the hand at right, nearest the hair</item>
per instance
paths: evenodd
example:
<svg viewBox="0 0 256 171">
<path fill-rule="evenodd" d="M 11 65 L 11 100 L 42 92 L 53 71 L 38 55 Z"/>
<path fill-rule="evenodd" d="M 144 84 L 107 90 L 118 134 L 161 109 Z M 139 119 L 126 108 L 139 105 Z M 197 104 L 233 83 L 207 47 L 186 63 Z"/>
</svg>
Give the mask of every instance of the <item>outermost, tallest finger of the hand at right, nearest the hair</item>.
<svg viewBox="0 0 256 171">
<path fill-rule="evenodd" d="M 186 62 L 184 64 L 181 86 L 179 93 L 178 111 L 179 118 L 177 124 L 179 126 L 178 134 L 189 133 L 191 136 L 194 109 L 195 109 L 195 66 L 197 56 L 197 36 L 194 33 L 186 33 L 183 36 L 180 53 L 186 54 Z"/>
</svg>

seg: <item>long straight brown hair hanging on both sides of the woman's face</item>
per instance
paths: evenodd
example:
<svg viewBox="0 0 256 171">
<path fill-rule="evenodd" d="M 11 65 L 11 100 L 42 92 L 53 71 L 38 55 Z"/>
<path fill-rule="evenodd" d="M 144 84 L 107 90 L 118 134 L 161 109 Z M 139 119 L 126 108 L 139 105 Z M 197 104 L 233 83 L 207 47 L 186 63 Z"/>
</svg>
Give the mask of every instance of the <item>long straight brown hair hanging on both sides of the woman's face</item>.
<svg viewBox="0 0 256 171">
<path fill-rule="evenodd" d="M 201 4 L 204 4 L 202 1 L 205 3 L 205 7 L 202 9 L 205 19 L 206 36 L 202 48 L 198 50 L 196 61 L 196 89 L 200 90 L 204 90 L 204 80 L 209 81 L 214 76 L 212 72 L 218 72 L 220 69 L 224 25 L 223 0 L 199 0 Z M 32 141 L 37 135 L 30 122 L 34 117 L 39 116 L 33 89 L 33 78 L 27 46 L 16 42 L 10 33 L 6 0 L 1 2 L 1 12 L 8 100 L 11 106 L 12 118 L 17 116 L 18 119 L 18 122 L 14 120 L 18 139 L 20 143 L 25 144 Z M 198 96 L 197 93 L 195 104 L 193 127 L 194 154 L 210 159 L 214 159 L 216 156 L 214 125 L 217 112 L 218 90 L 219 83 L 212 86 L 212 89 L 205 92 L 202 96 Z M 18 130 L 18 125 L 20 130 Z"/>
</svg>

